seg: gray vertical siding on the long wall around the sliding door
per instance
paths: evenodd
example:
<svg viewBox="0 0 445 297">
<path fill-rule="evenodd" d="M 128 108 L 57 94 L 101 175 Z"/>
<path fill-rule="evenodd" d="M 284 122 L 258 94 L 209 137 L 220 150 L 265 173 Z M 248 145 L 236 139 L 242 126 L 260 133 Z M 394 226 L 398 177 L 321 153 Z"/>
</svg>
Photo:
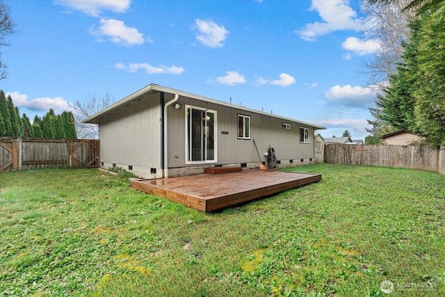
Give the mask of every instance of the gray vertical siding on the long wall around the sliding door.
<svg viewBox="0 0 445 297">
<path fill-rule="evenodd" d="M 268 147 L 275 149 L 277 160 L 314 158 L 314 129 L 298 122 L 284 121 L 264 114 L 241 111 L 229 106 L 220 106 L 187 97 L 179 97 L 181 109 L 170 106 L 168 110 L 168 167 L 186 165 L 186 104 L 217 111 L 218 164 L 249 163 L 258 161 L 253 139 L 257 143 L 262 161 Z M 250 140 L 238 139 L 238 114 L 251 117 Z M 291 129 L 282 129 L 282 123 L 291 124 Z M 309 129 L 309 143 L 300 143 L 300 127 Z M 222 132 L 228 134 L 222 134 Z"/>
</svg>

